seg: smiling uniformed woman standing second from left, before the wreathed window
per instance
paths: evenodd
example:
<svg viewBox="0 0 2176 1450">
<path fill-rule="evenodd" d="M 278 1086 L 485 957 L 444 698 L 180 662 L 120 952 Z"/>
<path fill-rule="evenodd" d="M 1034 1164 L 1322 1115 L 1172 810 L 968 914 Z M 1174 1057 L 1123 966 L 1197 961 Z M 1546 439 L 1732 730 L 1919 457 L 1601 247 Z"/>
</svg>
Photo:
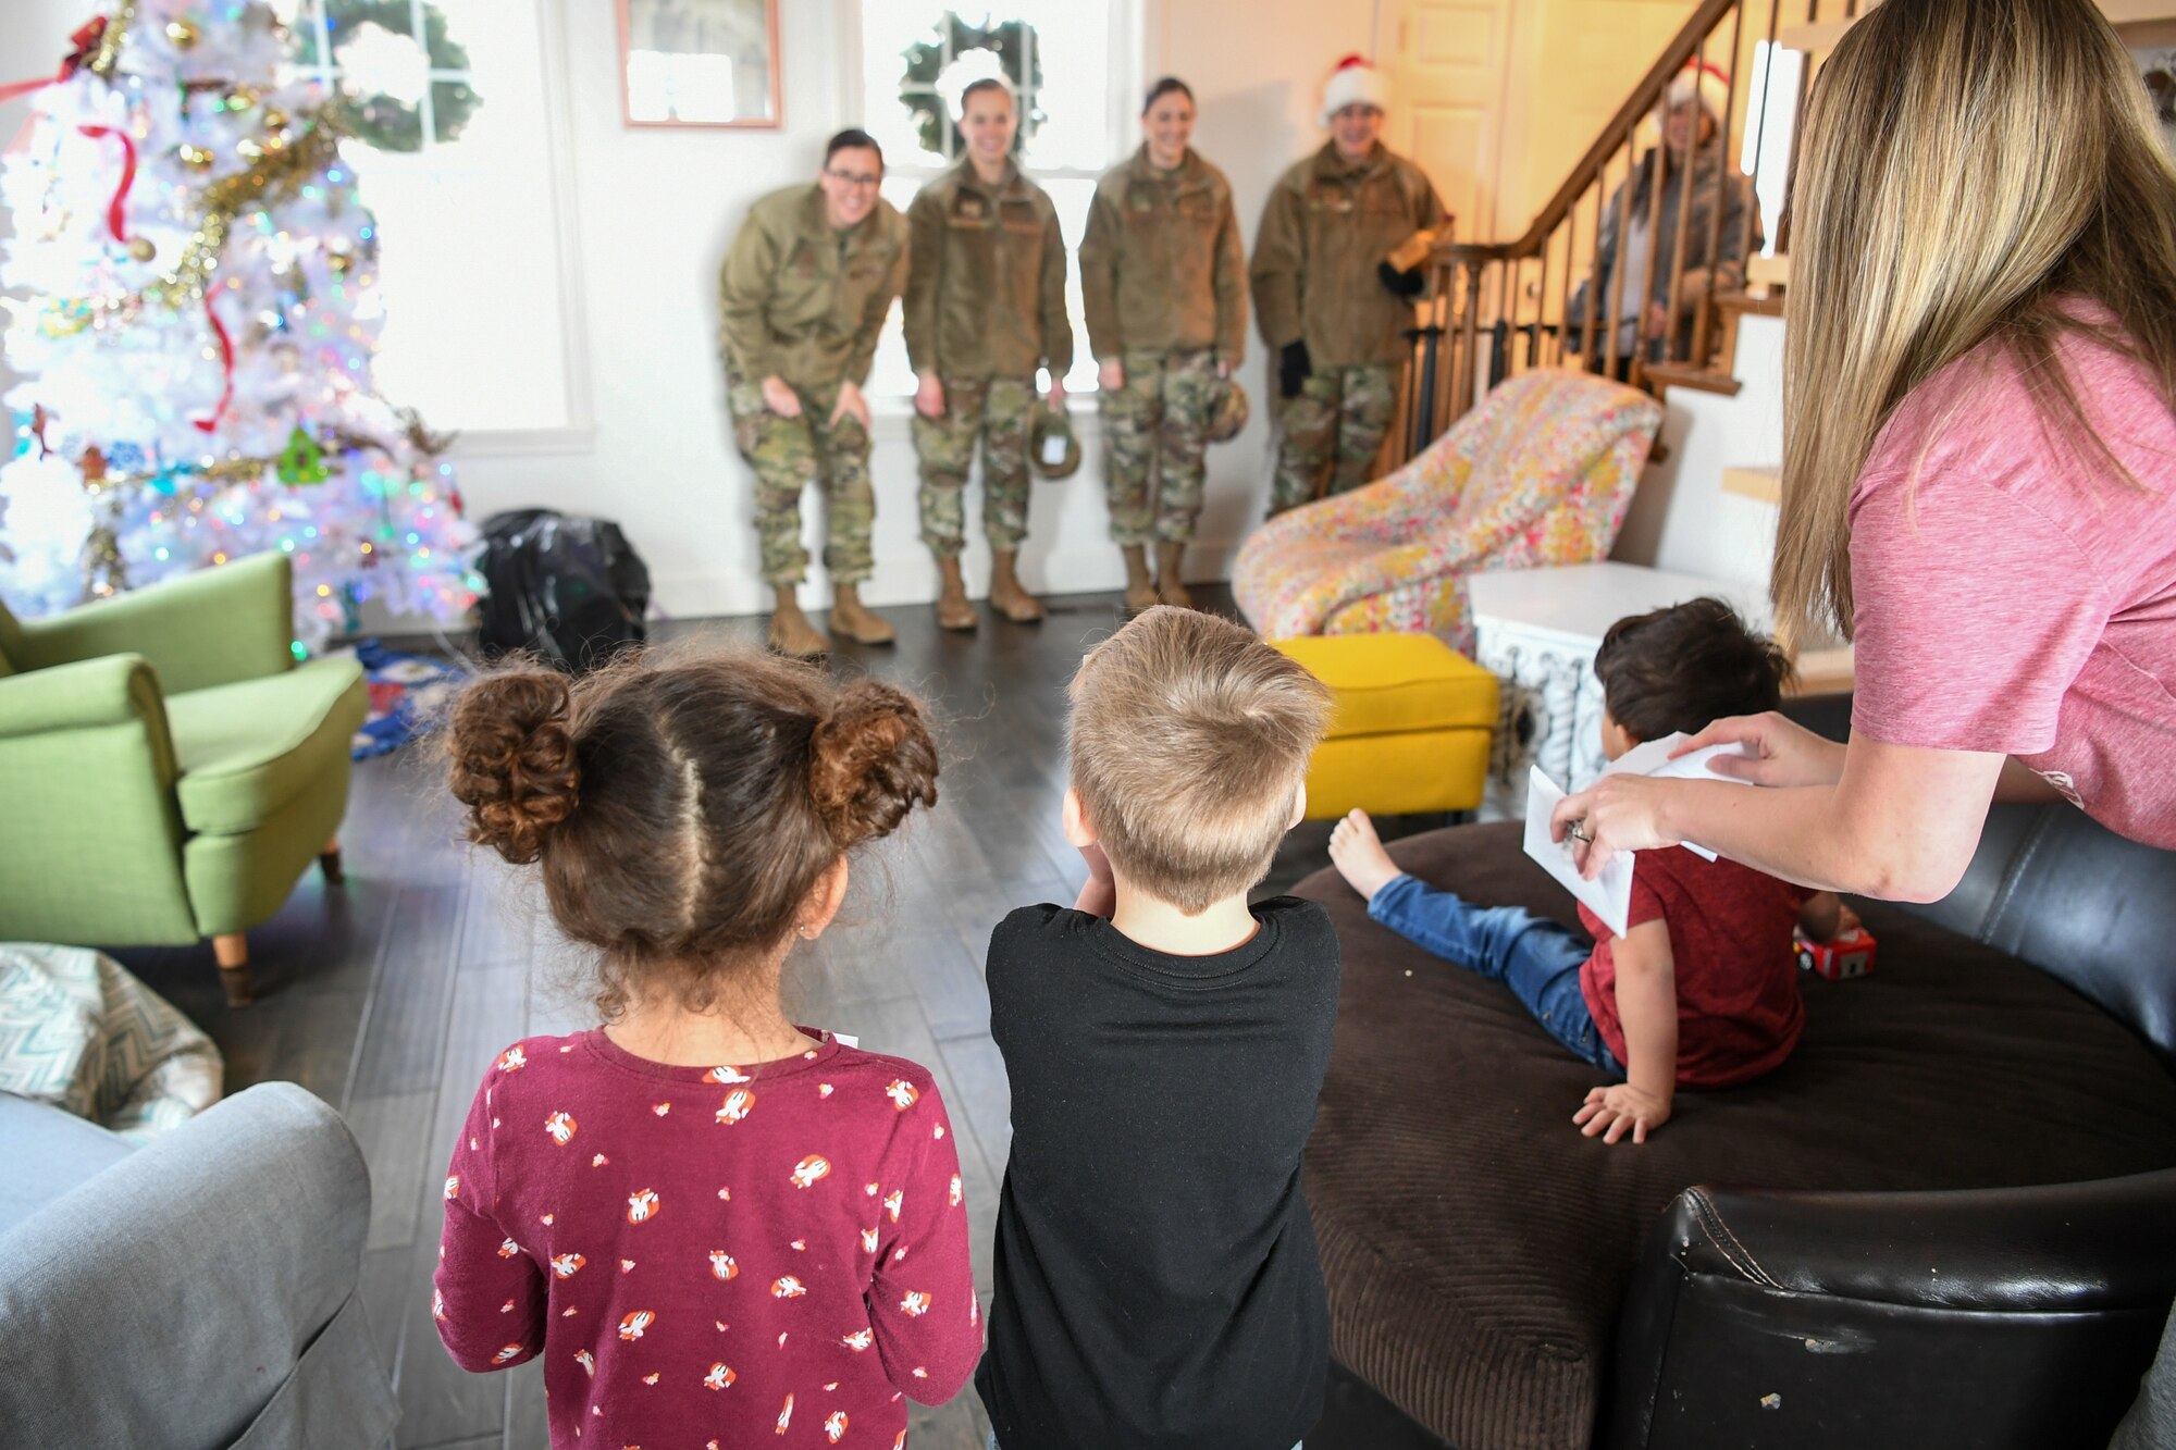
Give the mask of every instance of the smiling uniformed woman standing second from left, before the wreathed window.
<svg viewBox="0 0 2176 1450">
<path fill-rule="evenodd" d="M 907 361 L 920 377 L 914 451 L 923 475 L 923 542 L 938 560 L 938 623 L 947 629 L 975 627 L 960 551 L 962 492 L 977 440 L 981 527 L 994 555 L 990 603 L 1012 620 L 1042 618 L 1014 566 L 1027 538 L 1027 425 L 1038 368 L 1051 372 L 1051 405 L 1064 407 L 1073 324 L 1058 211 L 1012 163 L 1014 126 L 1003 83 L 968 87 L 962 96 L 968 155 L 907 207 L 905 335 Z"/>
</svg>

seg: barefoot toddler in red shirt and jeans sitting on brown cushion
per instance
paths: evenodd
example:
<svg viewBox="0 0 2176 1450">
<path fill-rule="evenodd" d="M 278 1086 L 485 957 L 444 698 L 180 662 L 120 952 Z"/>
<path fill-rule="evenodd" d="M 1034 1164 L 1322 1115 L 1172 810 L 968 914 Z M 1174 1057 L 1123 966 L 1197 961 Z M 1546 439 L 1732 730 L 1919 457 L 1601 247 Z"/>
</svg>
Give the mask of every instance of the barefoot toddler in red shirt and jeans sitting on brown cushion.
<svg viewBox="0 0 2176 1450">
<path fill-rule="evenodd" d="M 1602 749 L 1617 760 L 1645 740 L 1776 710 L 1789 671 L 1719 599 L 1621 618 L 1595 651 Z M 1830 941 L 1858 925 L 1832 893 L 1676 847 L 1641 851 L 1623 936 L 1580 906 L 1593 945 L 1523 908 L 1423 886 L 1390 862 L 1360 810 L 1338 821 L 1330 860 L 1369 917 L 1504 982 L 1558 1043 L 1621 1078 L 1573 1115 L 1608 1143 L 1628 1132 L 1645 1143 L 1669 1121 L 1678 1086 L 1747 1082 L 1789 1058 L 1806 1021 L 1791 930 Z"/>
</svg>

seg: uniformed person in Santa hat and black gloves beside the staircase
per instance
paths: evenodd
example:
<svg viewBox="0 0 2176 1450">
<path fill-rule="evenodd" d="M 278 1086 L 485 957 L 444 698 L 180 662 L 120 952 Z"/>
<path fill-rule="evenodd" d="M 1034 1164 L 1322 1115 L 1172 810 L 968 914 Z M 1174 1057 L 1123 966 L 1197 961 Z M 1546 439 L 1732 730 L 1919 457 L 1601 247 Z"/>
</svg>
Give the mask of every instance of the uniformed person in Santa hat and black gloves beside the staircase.
<svg viewBox="0 0 2176 1450">
<path fill-rule="evenodd" d="M 1373 124 L 1358 126 L 1358 111 Z M 1253 244 L 1253 307 L 1279 383 L 1271 514 L 1323 496 L 1325 483 L 1340 494 L 1369 481 L 1423 283 L 1384 259 L 1417 231 L 1445 226 L 1421 168 L 1373 139 L 1380 105 L 1323 120 L 1332 139 L 1277 181 Z"/>
</svg>

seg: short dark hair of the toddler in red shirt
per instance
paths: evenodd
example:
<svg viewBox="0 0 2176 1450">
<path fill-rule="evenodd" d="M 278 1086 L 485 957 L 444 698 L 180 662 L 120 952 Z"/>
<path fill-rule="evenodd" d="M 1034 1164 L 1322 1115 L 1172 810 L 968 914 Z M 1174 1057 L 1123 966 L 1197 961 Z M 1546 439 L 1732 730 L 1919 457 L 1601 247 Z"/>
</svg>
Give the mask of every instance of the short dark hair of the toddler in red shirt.
<svg viewBox="0 0 2176 1450">
<path fill-rule="evenodd" d="M 1776 642 L 1750 631 L 1721 599 L 1621 618 L 1595 651 L 1602 703 L 1634 740 L 1776 710 L 1789 675 L 1791 660 Z"/>
</svg>

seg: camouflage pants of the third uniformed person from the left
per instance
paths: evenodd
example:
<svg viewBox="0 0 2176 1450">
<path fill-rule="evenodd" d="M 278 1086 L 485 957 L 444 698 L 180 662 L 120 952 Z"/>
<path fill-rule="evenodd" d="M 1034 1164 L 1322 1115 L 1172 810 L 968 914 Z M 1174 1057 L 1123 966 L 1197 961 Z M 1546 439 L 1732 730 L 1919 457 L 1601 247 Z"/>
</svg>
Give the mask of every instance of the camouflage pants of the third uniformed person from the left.
<svg viewBox="0 0 2176 1450">
<path fill-rule="evenodd" d="M 1099 398 L 1110 464 L 1110 536 L 1118 544 L 1158 538 L 1184 544 L 1201 516 L 1210 416 L 1216 409 L 1216 355 L 1127 353 L 1125 385 Z M 1149 472 L 1158 496 L 1149 501 Z"/>
</svg>

